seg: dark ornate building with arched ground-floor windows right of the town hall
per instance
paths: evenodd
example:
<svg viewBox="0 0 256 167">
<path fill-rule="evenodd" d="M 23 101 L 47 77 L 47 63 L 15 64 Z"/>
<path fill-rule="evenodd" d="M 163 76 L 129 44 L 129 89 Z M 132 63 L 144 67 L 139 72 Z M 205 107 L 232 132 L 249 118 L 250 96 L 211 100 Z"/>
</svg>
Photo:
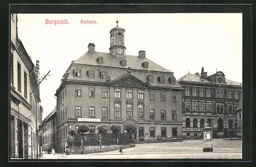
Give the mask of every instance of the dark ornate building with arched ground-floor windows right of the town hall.
<svg viewBox="0 0 256 167">
<path fill-rule="evenodd" d="M 207 76 L 187 74 L 178 80 L 185 88 L 182 96 L 183 136 L 202 135 L 209 124 L 215 136 L 237 129 L 236 108 L 241 98 L 242 84 L 225 78 L 222 71 Z"/>
</svg>

